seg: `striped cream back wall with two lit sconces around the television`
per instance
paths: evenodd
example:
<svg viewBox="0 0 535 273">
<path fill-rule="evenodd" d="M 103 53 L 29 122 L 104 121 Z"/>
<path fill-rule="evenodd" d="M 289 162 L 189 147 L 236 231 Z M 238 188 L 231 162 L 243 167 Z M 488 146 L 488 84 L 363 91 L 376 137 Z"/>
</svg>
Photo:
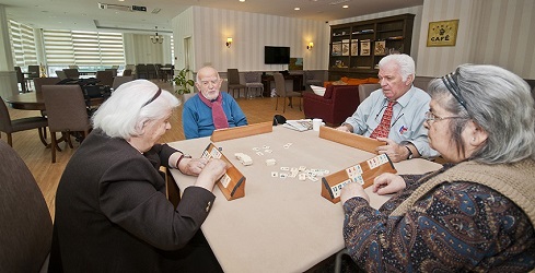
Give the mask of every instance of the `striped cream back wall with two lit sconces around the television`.
<svg viewBox="0 0 535 273">
<path fill-rule="evenodd" d="M 265 64 L 264 46 L 290 47 L 292 58 L 303 58 L 305 70 L 327 68 L 329 27 L 324 22 L 201 7 L 186 10 L 172 22 L 177 64 L 183 63 L 184 58 L 178 40 L 193 37 L 193 70 L 205 64 L 221 72 L 228 68 L 242 71 L 288 69 L 288 66 Z M 224 45 L 226 37 L 233 39 L 231 48 Z M 309 41 L 314 43 L 312 50 L 306 49 Z"/>
</svg>

